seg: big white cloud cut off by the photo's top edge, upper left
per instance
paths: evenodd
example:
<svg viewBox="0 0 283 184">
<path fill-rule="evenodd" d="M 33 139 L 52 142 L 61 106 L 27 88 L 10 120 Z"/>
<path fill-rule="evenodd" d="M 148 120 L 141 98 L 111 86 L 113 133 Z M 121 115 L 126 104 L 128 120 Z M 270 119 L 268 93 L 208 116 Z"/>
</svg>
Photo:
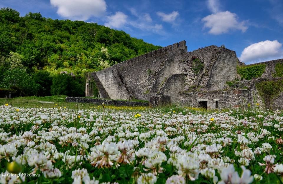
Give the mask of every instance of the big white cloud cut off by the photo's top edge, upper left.
<svg viewBox="0 0 283 184">
<path fill-rule="evenodd" d="M 102 16 L 106 11 L 104 0 L 50 0 L 57 7 L 57 14 L 71 20 L 88 20 Z"/>
</svg>

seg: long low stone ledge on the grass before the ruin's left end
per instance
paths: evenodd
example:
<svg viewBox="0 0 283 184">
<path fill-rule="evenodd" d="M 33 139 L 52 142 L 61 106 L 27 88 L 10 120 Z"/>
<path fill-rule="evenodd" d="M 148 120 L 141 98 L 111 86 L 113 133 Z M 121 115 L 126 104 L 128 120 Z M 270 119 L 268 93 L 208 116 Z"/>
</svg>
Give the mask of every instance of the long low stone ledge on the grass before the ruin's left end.
<svg viewBox="0 0 283 184">
<path fill-rule="evenodd" d="M 97 99 L 97 98 L 82 98 L 82 97 L 66 97 L 66 102 L 75 102 L 75 103 L 93 103 L 93 104 L 102 104 L 105 105 L 114 105 L 114 106 L 148 106 L 148 102 L 134 102 L 134 101 L 120 101 L 120 100 L 111 100 L 111 99 Z"/>
</svg>

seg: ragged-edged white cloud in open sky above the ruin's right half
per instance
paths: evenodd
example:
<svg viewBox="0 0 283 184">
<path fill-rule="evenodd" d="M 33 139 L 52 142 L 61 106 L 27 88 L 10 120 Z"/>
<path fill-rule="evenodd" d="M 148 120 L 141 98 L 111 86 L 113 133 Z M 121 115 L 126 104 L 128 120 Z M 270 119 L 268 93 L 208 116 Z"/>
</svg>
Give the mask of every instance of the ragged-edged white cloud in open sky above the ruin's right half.
<svg viewBox="0 0 283 184">
<path fill-rule="evenodd" d="M 211 14 L 202 19 L 204 27 L 209 28 L 210 34 L 227 33 L 230 30 L 241 30 L 245 32 L 248 27 L 245 26 L 245 21 L 239 22 L 238 16 L 230 11 L 218 12 Z"/>
</svg>

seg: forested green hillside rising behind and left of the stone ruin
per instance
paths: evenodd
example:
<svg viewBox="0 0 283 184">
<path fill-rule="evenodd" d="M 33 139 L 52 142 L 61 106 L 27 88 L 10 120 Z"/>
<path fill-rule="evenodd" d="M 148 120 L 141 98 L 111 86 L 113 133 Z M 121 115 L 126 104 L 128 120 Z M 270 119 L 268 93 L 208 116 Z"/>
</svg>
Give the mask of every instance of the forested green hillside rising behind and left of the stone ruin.
<svg viewBox="0 0 283 184">
<path fill-rule="evenodd" d="M 83 96 L 86 73 L 158 48 L 96 23 L 52 20 L 40 13 L 21 17 L 16 10 L 2 8 L 0 88 L 15 89 L 22 96 Z M 61 71 L 75 77 L 59 75 Z"/>
</svg>

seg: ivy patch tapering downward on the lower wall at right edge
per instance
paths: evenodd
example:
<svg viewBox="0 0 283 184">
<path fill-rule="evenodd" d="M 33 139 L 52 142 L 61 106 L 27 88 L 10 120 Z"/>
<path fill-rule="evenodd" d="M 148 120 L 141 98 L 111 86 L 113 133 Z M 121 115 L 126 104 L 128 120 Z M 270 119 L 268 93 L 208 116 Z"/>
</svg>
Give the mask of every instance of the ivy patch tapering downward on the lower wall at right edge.
<svg viewBox="0 0 283 184">
<path fill-rule="evenodd" d="M 265 108 L 270 108 L 274 99 L 283 91 L 283 80 L 259 82 L 256 83 L 256 89 Z"/>
</svg>

